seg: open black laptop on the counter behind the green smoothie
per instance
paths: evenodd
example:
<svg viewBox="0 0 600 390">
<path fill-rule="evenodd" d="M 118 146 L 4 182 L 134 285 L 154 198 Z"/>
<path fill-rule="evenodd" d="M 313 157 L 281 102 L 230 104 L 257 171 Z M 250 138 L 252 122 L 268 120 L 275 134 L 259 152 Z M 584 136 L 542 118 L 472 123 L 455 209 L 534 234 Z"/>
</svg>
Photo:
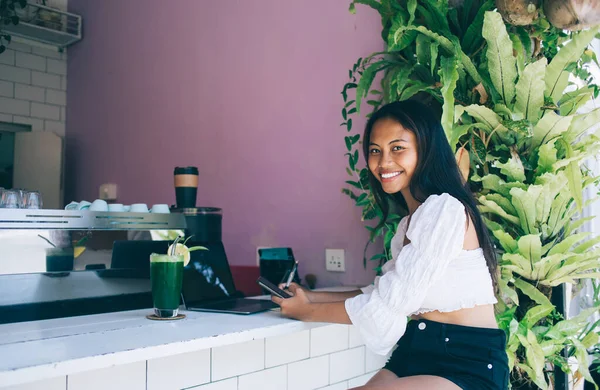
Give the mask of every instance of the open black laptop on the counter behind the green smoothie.
<svg viewBox="0 0 600 390">
<path fill-rule="evenodd" d="M 279 308 L 270 300 L 240 297 L 221 242 L 186 245 L 203 245 L 209 249 L 191 252 L 190 262 L 183 270 L 181 297 L 186 310 L 252 314 Z"/>
</svg>

